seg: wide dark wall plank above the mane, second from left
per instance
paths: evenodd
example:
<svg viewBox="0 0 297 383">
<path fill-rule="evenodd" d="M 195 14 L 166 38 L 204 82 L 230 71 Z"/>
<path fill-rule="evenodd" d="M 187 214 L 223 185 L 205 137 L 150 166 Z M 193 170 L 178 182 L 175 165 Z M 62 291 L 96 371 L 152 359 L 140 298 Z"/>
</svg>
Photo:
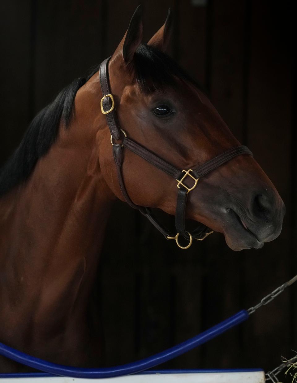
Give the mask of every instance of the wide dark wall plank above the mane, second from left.
<svg viewBox="0 0 297 383">
<path fill-rule="evenodd" d="M 35 112 L 104 58 L 102 3 L 37 1 Z"/>
</svg>

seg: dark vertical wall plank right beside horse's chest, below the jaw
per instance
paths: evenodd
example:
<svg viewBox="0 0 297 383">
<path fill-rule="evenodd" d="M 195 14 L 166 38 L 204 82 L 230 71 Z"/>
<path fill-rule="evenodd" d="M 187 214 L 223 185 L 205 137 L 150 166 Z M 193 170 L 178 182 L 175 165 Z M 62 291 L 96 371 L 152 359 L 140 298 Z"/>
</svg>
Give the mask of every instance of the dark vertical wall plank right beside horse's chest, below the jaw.
<svg viewBox="0 0 297 383">
<path fill-rule="evenodd" d="M 137 231 L 133 213 L 124 203 L 113 206 L 101 252 L 96 285 L 99 290 L 106 365 L 131 362 L 137 358 L 135 283 L 139 262 L 134 236 L 127 234 L 127 230 L 131 233 Z M 125 217 L 125 224 L 122 217 Z M 117 233 L 117 241 L 114 240 L 114 232 Z"/>
</svg>

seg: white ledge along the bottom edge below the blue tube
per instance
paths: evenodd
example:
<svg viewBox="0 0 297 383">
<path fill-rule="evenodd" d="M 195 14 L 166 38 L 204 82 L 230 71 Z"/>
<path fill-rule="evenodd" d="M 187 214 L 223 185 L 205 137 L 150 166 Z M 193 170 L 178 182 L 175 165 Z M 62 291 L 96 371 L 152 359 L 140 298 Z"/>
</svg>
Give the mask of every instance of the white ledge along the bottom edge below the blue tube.
<svg viewBox="0 0 297 383">
<path fill-rule="evenodd" d="M 2 378 L 0 383 L 265 383 L 264 372 L 212 372 L 129 375 L 109 379 L 77 379 L 62 377 L 47 378 Z"/>
</svg>

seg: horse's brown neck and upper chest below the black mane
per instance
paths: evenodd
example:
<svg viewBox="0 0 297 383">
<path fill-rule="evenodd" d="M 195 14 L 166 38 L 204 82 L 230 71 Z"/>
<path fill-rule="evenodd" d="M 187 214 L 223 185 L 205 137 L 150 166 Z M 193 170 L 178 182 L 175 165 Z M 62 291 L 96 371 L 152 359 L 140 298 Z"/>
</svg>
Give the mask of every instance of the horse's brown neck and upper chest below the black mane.
<svg viewBox="0 0 297 383">
<path fill-rule="evenodd" d="M 0 304 L 9 316 L 2 321 L 7 331 L 17 318 L 54 325 L 70 312 L 72 321 L 84 313 L 113 195 L 91 140 L 64 144 L 65 134 L 75 134 L 71 129 L 25 184 L 0 200 Z"/>
</svg>

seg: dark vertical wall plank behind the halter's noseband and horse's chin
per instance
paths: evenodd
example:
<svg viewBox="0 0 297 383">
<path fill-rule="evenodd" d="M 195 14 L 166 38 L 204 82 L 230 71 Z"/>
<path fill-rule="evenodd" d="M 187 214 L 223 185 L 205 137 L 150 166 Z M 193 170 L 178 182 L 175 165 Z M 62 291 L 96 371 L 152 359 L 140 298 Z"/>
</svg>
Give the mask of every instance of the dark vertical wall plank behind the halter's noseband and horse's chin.
<svg viewBox="0 0 297 383">
<path fill-rule="evenodd" d="M 207 48 L 211 56 L 208 69 L 211 101 L 240 141 L 243 137 L 245 11 L 244 2 L 214 0 L 209 15 L 211 47 Z M 204 265 L 204 329 L 241 309 L 243 296 L 243 254 L 234 254 L 223 236 L 209 245 L 209 252 Z M 242 328 L 237 327 L 205 345 L 204 367 L 211 367 L 214 362 L 218 368 L 244 365 L 241 332 Z M 226 347 L 226 342 L 230 347 Z"/>
</svg>

